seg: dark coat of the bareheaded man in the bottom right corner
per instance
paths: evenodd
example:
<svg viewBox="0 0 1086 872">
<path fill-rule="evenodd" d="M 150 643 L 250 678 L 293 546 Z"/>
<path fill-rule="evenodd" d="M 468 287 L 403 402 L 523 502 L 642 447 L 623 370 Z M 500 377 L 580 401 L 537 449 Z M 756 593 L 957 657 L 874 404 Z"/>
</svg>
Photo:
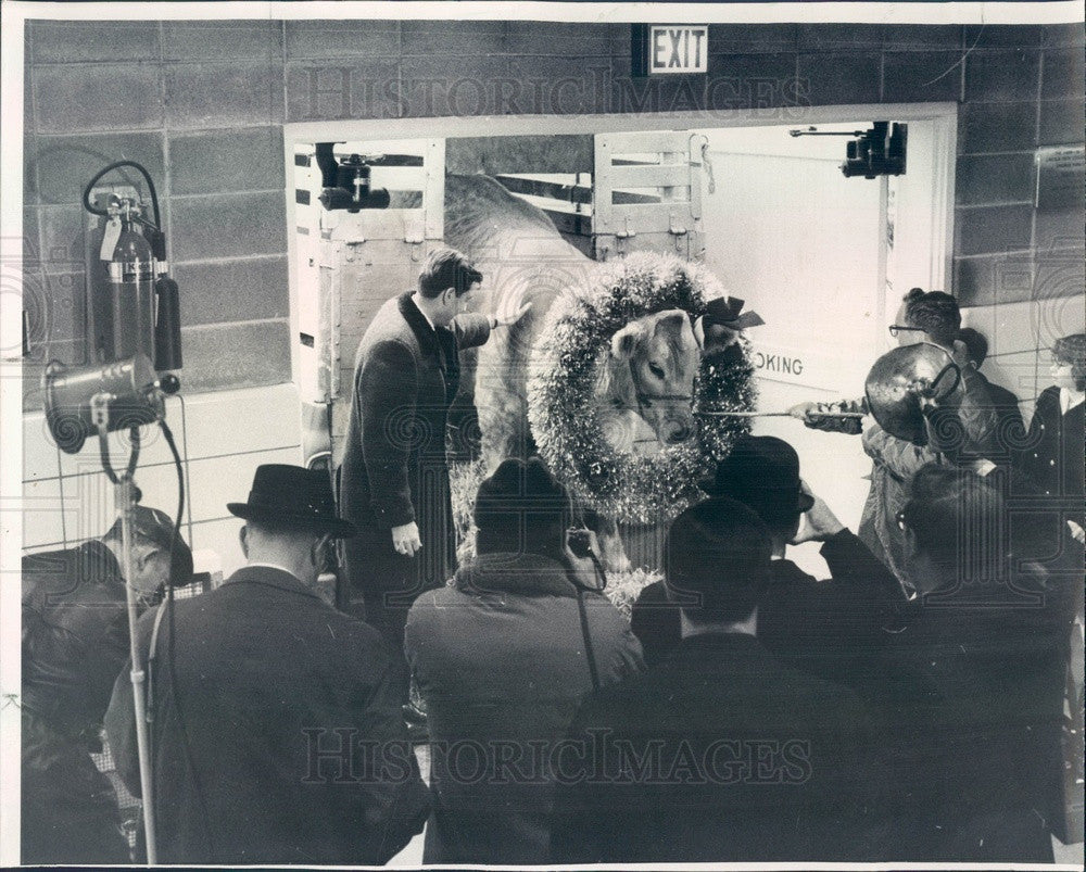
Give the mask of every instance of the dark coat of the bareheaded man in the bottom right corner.
<svg viewBox="0 0 1086 872">
<path fill-rule="evenodd" d="M 1082 574 L 973 578 L 918 597 L 861 695 L 886 724 L 899 859 L 1052 862 L 1047 820 Z"/>
</svg>

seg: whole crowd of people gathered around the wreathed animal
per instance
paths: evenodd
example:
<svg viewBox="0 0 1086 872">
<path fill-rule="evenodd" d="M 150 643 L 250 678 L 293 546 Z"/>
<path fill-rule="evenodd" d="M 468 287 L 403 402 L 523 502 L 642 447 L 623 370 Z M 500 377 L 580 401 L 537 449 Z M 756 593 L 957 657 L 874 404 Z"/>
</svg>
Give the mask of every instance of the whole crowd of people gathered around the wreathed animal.
<svg viewBox="0 0 1086 872">
<path fill-rule="evenodd" d="M 910 292 L 892 332 L 962 374 L 952 396 L 915 386 L 923 444 L 833 417 L 842 404 L 795 410 L 872 458 L 857 532 L 790 444 L 746 437 L 670 523 L 662 578 L 627 618 L 539 458 L 481 483 L 475 556 L 454 569 L 434 434 L 457 349 L 517 317 L 457 324 L 479 279 L 439 252 L 382 309 L 340 503 L 324 472 L 261 466 L 228 505 L 247 565 L 219 587 L 155 606 L 192 564 L 144 507 L 132 578 L 116 529 L 25 559 L 24 861 L 128 858 L 89 751 L 104 723 L 139 795 L 129 584 L 149 606 L 136 666 L 161 862 L 382 864 L 424 826 L 431 864 L 1051 862 L 1083 607 L 1086 337 L 1055 343 L 1026 428 L 954 299 Z M 380 417 L 405 396 L 425 439 Z M 317 578 L 341 541 L 354 595 L 337 608 Z M 788 559 L 804 542 L 830 578 Z"/>
</svg>

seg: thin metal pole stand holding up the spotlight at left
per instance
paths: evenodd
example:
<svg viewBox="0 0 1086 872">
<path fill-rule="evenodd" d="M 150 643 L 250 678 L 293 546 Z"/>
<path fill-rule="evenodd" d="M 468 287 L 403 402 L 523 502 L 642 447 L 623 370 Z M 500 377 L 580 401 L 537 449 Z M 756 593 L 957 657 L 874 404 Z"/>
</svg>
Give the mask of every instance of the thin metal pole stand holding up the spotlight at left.
<svg viewBox="0 0 1086 872">
<path fill-rule="evenodd" d="M 147 844 L 147 861 L 150 865 L 157 863 L 154 826 L 154 795 L 151 778 L 151 736 L 147 722 L 147 672 L 139 656 L 139 645 L 136 640 L 136 622 L 138 601 L 132 585 L 132 511 L 136 506 L 136 485 L 132 475 L 139 460 L 139 428 L 128 431 L 131 441 L 131 454 L 128 466 L 122 475 L 113 470 L 110 463 L 109 420 L 111 394 L 94 394 L 90 401 L 91 417 L 98 428 L 99 445 L 102 454 L 102 468 L 113 482 L 113 500 L 117 515 L 121 518 L 121 559 L 125 577 L 125 598 L 128 603 L 128 645 L 131 656 L 132 705 L 136 709 L 136 750 L 139 757 L 139 784 L 143 799 L 143 836 Z"/>
</svg>

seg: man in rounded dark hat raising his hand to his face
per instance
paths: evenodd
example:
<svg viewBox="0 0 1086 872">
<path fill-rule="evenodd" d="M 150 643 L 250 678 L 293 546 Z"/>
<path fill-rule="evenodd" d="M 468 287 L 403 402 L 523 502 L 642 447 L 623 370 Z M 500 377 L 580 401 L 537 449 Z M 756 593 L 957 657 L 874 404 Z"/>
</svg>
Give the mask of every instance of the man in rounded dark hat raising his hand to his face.
<svg viewBox="0 0 1086 872">
<path fill-rule="evenodd" d="M 907 602 L 894 574 L 810 492 L 799 477 L 799 455 L 781 439 L 740 440 L 704 486 L 753 509 L 769 530 L 773 560 L 758 607 L 758 640 L 796 668 L 853 683 Z M 831 579 L 819 581 L 785 557 L 790 544 L 803 542 L 822 543 Z M 679 608 L 662 582 L 642 592 L 632 624 L 646 662 L 679 644 Z"/>
</svg>

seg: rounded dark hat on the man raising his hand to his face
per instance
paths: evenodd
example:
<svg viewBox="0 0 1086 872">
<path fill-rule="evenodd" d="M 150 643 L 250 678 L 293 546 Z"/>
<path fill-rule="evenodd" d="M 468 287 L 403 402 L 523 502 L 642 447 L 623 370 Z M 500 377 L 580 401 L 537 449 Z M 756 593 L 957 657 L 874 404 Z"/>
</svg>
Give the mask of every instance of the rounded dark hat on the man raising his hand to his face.
<svg viewBox="0 0 1086 872">
<path fill-rule="evenodd" d="M 711 496 L 737 500 L 773 528 L 793 523 L 815 505 L 799 481 L 799 455 L 776 437 L 738 440 L 707 490 Z"/>
</svg>

